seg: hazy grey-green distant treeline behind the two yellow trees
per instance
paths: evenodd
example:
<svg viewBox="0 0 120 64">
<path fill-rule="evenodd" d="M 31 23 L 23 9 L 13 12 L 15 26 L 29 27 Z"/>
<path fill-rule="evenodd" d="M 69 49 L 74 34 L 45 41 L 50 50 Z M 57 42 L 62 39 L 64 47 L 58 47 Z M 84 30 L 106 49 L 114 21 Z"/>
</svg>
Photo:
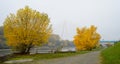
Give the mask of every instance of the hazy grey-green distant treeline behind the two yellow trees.
<svg viewBox="0 0 120 64">
<path fill-rule="evenodd" d="M 4 38 L 3 26 L 0 27 L 0 49 L 8 49 L 9 46 L 6 45 L 6 39 Z M 74 47 L 73 42 L 69 40 L 62 40 L 59 35 L 52 34 L 45 44 L 49 47 Z"/>
</svg>

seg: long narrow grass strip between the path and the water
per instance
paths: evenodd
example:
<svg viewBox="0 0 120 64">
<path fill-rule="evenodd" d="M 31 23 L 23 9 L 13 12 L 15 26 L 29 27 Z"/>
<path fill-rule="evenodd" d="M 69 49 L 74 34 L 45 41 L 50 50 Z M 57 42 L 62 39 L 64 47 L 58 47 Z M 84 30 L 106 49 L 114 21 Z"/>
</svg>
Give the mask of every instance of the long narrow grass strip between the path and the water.
<svg viewBox="0 0 120 64">
<path fill-rule="evenodd" d="M 66 52 L 66 53 L 60 53 L 59 52 L 59 53 L 32 54 L 32 55 L 15 55 L 15 54 L 13 54 L 13 55 L 6 56 L 4 61 L 33 59 L 33 62 L 35 62 L 37 60 L 55 59 L 55 58 L 61 58 L 61 57 L 75 56 L 75 55 L 78 55 L 78 54 L 85 54 L 85 53 L 88 53 L 88 52 L 93 52 L 93 51 L 98 51 L 98 50 L 100 50 L 100 49 L 96 48 L 92 51 L 77 51 L 77 52 Z M 0 62 L 0 64 L 3 63 L 4 61 Z M 34 63 L 34 64 L 36 64 L 36 63 Z"/>
</svg>

